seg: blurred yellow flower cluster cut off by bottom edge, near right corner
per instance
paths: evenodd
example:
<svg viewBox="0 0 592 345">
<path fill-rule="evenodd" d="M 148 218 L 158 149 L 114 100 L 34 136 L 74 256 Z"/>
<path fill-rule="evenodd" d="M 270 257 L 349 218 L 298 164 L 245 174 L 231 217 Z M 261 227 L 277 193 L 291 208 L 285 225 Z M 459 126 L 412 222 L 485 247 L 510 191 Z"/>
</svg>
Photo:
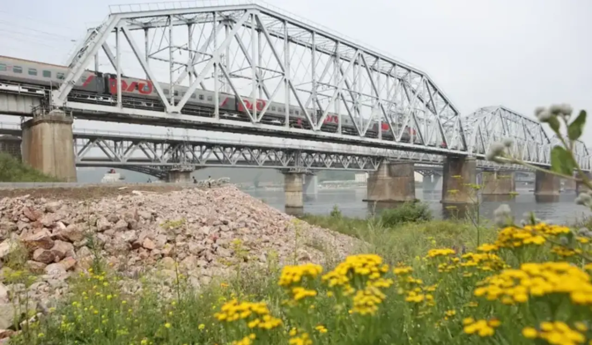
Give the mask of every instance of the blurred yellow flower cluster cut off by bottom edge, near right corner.
<svg viewBox="0 0 592 345">
<path fill-rule="evenodd" d="M 529 339 L 544 339 L 549 344 L 561 345 L 576 345 L 583 344 L 585 339 L 584 334 L 588 327 L 584 322 L 575 322 L 575 330 L 570 328 L 565 322 L 541 322 L 539 330 L 533 327 L 525 327 L 522 330 L 522 335 Z"/>
</svg>

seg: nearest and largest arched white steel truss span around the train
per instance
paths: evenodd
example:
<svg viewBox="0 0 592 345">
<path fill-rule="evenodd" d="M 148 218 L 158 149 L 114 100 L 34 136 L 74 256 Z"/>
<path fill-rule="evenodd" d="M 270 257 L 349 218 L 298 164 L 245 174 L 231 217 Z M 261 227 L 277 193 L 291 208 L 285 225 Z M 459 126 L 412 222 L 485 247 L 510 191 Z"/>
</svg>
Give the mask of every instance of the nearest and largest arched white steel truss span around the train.
<svg viewBox="0 0 592 345">
<path fill-rule="evenodd" d="M 264 3 L 205 4 L 117 7 L 88 31 L 62 85 L 52 92 L 52 104 L 80 118 L 99 113 L 121 122 L 132 117 L 147 124 L 183 121 L 201 128 L 242 127 L 252 134 L 467 155 L 459 111 L 424 72 Z M 114 71 L 117 95 L 91 99 L 73 90 L 92 60 L 97 68 L 99 60 L 110 63 L 109 71 L 101 72 Z M 123 71 L 151 81 L 153 98 L 137 101 L 122 94 Z M 213 92 L 211 108 L 188 103 L 198 90 Z M 234 117 L 221 108 L 229 95 L 244 110 Z M 271 114 L 278 106 L 281 113 Z M 301 127 L 291 126 L 295 114 Z M 388 127 L 379 130 L 383 124 Z"/>
</svg>

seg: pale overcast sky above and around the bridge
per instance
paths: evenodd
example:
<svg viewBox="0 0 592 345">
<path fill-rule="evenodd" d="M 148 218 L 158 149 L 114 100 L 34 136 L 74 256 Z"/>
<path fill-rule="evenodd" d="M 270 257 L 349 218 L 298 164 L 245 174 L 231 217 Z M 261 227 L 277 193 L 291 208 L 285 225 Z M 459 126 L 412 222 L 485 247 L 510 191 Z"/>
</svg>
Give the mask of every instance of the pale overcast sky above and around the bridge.
<svg viewBox="0 0 592 345">
<path fill-rule="evenodd" d="M 108 5 L 121 2 L 4 1 L 0 55 L 62 64 L 86 28 L 105 20 Z M 462 114 L 503 105 L 533 117 L 535 107 L 553 103 L 592 110 L 589 0 L 267 2 L 425 71 Z M 584 142 L 592 145 L 592 135 Z"/>
</svg>

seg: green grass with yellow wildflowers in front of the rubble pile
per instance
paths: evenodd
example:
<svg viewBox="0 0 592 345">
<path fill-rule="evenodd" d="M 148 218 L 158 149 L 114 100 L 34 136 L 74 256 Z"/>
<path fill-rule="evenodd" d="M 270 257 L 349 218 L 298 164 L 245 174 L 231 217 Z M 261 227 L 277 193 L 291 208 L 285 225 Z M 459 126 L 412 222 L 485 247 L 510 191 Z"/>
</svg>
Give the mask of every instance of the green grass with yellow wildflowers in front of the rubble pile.
<svg viewBox="0 0 592 345">
<path fill-rule="evenodd" d="M 23 328 L 11 344 L 505 345 L 592 339 L 592 285 L 584 273 L 592 269 L 584 258 L 592 248 L 569 228 L 482 228 L 482 241 L 496 245 L 478 249 L 477 229 L 465 222 L 386 226 L 382 216 L 350 219 L 337 211 L 304 220 L 362 239 L 358 252 L 373 255 L 353 255 L 323 273 L 314 264 L 282 269 L 275 260 L 266 267 L 239 263 L 236 276 L 200 291 L 177 273 L 168 299 L 149 280 L 142 280 L 140 292 L 126 293 L 123 280 L 97 261 L 70 282 L 75 293 L 67 301 Z M 446 249 L 462 246 L 470 253 Z M 548 263 L 556 261 L 575 266 Z M 519 270 L 527 262 L 545 264 Z M 343 276 L 348 266 L 357 268 Z M 507 267 L 522 280 L 504 273 Z M 491 276 L 497 276 L 491 283 L 505 285 L 480 283 Z M 264 304 L 250 303 L 258 301 Z"/>
</svg>

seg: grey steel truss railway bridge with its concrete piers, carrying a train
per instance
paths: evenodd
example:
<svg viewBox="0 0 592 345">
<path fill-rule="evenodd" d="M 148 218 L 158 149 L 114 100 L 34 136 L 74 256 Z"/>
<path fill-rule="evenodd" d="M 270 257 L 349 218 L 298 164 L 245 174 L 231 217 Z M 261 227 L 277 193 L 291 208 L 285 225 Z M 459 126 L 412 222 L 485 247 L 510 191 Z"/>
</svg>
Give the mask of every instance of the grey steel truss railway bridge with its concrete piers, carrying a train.
<svg viewBox="0 0 592 345">
<path fill-rule="evenodd" d="M 260 143 L 307 142 L 298 150 L 286 142 L 236 146 L 227 139 L 218 145 L 227 161 L 228 152 L 246 157 L 247 150 L 244 161 L 265 165 L 258 159 L 272 152 L 286 168 L 288 207 L 302 206 L 307 167 L 352 169 L 364 162 L 360 169 L 372 170 L 368 199 L 398 202 L 414 199 L 414 165 L 433 162 L 442 165 L 445 204 L 471 202 L 467 184 L 475 183 L 478 165 L 493 171 L 488 192 L 511 193 L 507 171 L 517 167 L 484 161 L 491 143 L 503 138 L 513 139 L 514 156 L 550 167 L 556 140 L 539 123 L 504 106 L 463 116 L 431 76 L 388 53 L 264 2 L 188 4 L 110 7 L 66 66 L 0 65 L 0 113 L 31 117 L 22 124 L 24 160 L 75 180 L 75 165 L 82 164 L 73 147 L 75 119 L 255 135 Z M 109 66 L 101 66 L 103 60 Z M 140 145 L 146 140 L 130 142 L 128 149 L 150 153 Z M 168 170 L 188 175 L 202 164 L 197 148 L 206 146 L 178 143 L 170 152 L 179 162 L 167 158 Z M 576 155 L 590 171 L 583 143 Z M 110 164 L 147 164 L 120 158 Z M 558 178 L 537 173 L 535 194 L 558 193 Z"/>
</svg>

